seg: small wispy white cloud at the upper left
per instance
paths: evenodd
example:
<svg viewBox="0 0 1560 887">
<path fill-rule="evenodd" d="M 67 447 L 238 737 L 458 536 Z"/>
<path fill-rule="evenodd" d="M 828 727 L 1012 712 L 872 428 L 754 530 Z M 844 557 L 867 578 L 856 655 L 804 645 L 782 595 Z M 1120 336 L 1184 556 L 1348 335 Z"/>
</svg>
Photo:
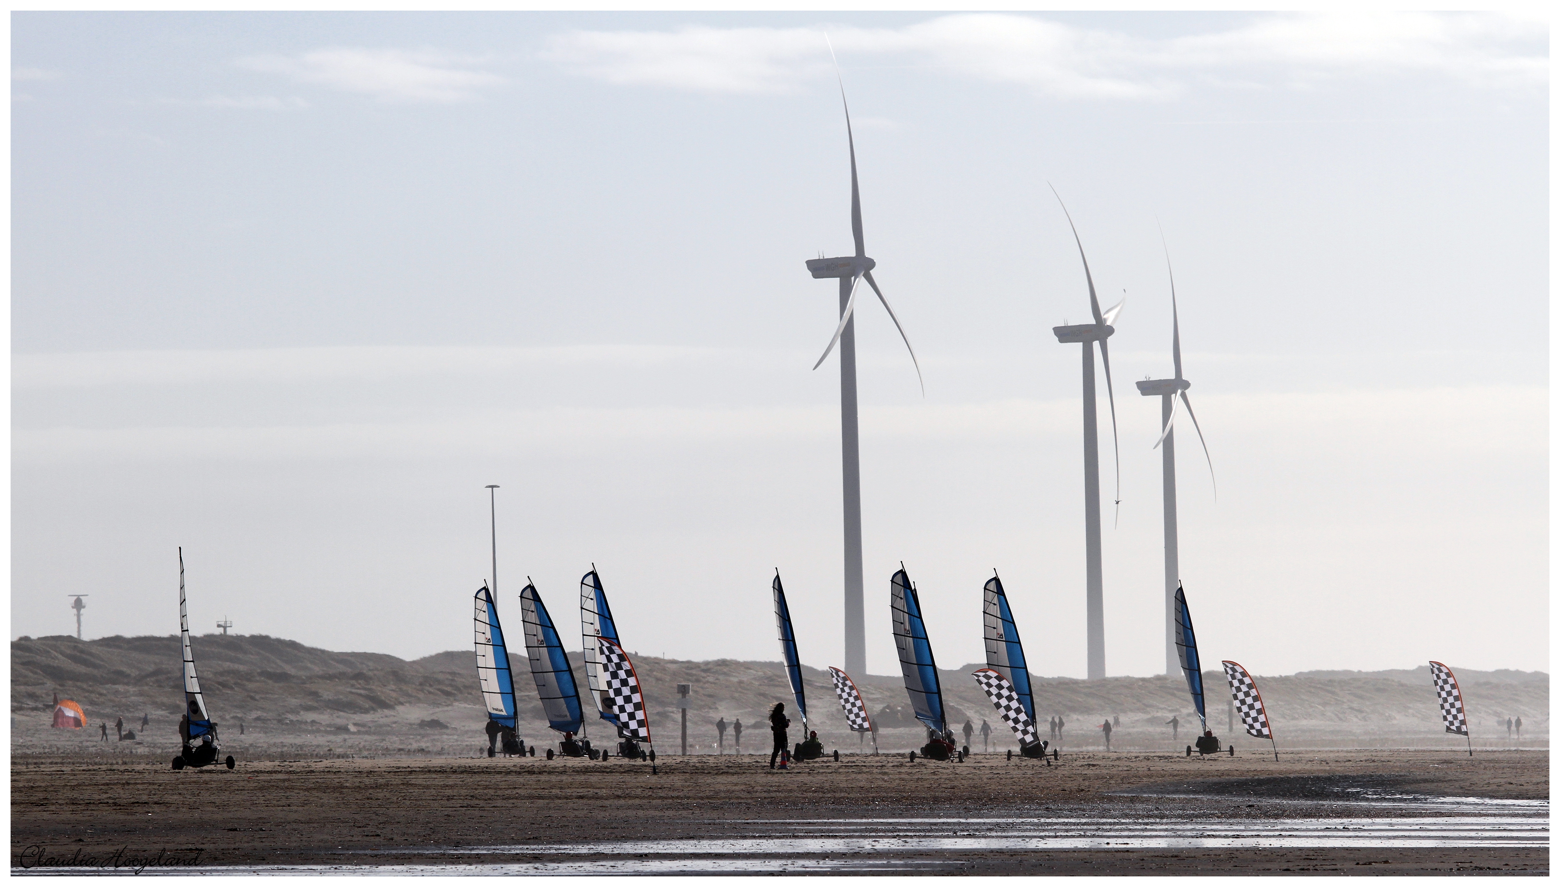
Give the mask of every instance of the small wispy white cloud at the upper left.
<svg viewBox="0 0 1560 887">
<path fill-rule="evenodd" d="M 477 70 L 482 59 L 435 50 L 332 47 L 298 56 L 246 56 L 236 64 L 381 102 L 470 102 L 479 89 L 504 83 L 502 77 Z"/>
</svg>

